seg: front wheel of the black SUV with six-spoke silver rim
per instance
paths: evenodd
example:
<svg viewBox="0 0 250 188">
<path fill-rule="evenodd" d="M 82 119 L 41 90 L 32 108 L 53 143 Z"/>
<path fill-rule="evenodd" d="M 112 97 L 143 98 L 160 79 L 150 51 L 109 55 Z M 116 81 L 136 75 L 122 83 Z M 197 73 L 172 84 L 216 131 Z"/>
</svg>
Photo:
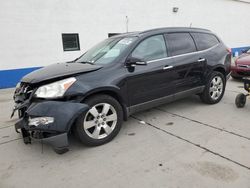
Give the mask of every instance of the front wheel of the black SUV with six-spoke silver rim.
<svg viewBox="0 0 250 188">
<path fill-rule="evenodd" d="M 109 95 L 95 95 L 84 103 L 90 109 L 77 118 L 73 129 L 76 137 L 86 146 L 99 146 L 111 141 L 123 122 L 119 102 Z"/>
</svg>

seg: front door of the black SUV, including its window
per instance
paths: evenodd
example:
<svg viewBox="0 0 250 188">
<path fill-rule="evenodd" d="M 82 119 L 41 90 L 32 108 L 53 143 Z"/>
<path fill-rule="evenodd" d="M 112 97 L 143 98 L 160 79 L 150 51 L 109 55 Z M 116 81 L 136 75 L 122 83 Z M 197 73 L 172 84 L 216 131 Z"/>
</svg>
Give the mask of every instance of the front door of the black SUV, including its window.
<svg viewBox="0 0 250 188">
<path fill-rule="evenodd" d="M 167 58 L 163 35 L 144 39 L 132 52 L 131 57 L 143 59 L 147 65 L 137 65 L 132 71 L 128 69 L 127 88 L 130 106 L 159 101 L 175 92 L 174 61 Z"/>
</svg>

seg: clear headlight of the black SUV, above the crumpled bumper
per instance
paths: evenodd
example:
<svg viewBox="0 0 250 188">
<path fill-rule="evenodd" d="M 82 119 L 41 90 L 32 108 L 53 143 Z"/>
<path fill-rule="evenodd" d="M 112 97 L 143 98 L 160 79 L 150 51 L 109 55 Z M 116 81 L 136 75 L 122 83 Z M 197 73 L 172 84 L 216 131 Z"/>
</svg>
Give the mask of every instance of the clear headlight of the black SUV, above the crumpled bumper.
<svg viewBox="0 0 250 188">
<path fill-rule="evenodd" d="M 35 97 L 38 98 L 56 98 L 62 97 L 67 89 L 76 81 L 71 77 L 51 84 L 43 85 L 36 90 Z"/>
</svg>

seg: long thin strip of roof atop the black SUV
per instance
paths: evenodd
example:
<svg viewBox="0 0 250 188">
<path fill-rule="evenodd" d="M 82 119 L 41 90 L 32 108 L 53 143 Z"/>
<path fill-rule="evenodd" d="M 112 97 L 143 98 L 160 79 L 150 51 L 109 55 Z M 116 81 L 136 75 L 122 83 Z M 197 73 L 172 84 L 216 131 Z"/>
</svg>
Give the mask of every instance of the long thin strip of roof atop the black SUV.
<svg viewBox="0 0 250 188">
<path fill-rule="evenodd" d="M 201 32 L 201 33 L 211 33 L 208 29 L 202 28 L 193 28 L 193 27 L 164 27 L 164 28 L 156 28 L 150 29 L 146 31 L 135 31 L 135 32 L 128 32 L 122 33 L 119 35 L 113 36 L 115 37 L 131 37 L 131 36 L 140 36 L 140 35 L 151 35 L 151 34 L 158 34 L 158 33 L 168 33 L 168 32 Z"/>
</svg>

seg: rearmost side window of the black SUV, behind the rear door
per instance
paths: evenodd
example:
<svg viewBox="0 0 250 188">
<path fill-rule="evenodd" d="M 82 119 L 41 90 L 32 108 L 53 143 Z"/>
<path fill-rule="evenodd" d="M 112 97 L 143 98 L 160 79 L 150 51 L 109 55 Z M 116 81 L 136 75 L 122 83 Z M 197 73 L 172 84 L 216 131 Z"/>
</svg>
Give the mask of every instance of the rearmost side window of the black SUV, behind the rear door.
<svg viewBox="0 0 250 188">
<path fill-rule="evenodd" d="M 192 33 L 197 49 L 206 50 L 219 43 L 219 40 L 212 34 L 207 33 Z"/>
</svg>

